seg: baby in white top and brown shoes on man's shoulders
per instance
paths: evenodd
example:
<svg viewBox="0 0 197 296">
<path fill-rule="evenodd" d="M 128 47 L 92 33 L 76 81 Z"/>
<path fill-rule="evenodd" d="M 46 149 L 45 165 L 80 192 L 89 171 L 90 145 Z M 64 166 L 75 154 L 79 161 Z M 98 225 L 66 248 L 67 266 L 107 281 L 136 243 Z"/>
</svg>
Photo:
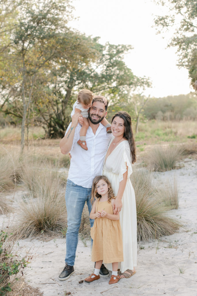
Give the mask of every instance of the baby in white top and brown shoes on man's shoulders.
<svg viewBox="0 0 197 296">
<path fill-rule="evenodd" d="M 71 112 L 70 116 L 72 117 L 74 113 L 81 113 L 81 116 L 83 117 L 83 125 L 80 130 L 80 139 L 77 142 L 78 145 L 81 146 L 84 150 L 88 150 L 87 144 L 86 144 L 86 133 L 87 129 L 89 127 L 88 123 L 88 110 L 92 106 L 92 99 L 93 98 L 101 98 L 106 104 L 106 99 L 104 96 L 94 96 L 91 91 L 88 89 L 82 89 L 79 91 L 77 96 L 77 101 L 73 105 L 73 111 Z M 104 125 L 107 129 L 107 133 L 111 133 L 111 124 L 104 118 L 101 121 L 102 125 Z"/>
</svg>

